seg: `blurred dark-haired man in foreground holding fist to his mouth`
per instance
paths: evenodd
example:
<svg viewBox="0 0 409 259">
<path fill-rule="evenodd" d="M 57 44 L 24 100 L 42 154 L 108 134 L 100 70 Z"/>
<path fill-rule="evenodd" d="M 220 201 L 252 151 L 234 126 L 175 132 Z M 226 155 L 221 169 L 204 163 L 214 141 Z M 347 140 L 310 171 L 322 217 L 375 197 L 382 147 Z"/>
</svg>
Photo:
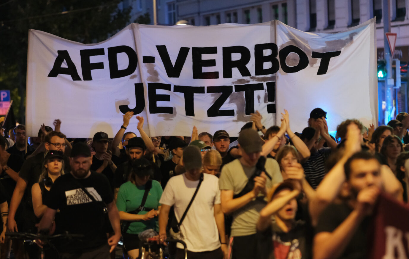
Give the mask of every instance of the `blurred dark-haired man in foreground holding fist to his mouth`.
<svg viewBox="0 0 409 259">
<path fill-rule="evenodd" d="M 314 258 L 368 258 L 367 233 L 384 182 L 378 160 L 368 152 L 352 155 L 344 165 L 350 198 L 330 204 L 320 215 Z"/>
</svg>

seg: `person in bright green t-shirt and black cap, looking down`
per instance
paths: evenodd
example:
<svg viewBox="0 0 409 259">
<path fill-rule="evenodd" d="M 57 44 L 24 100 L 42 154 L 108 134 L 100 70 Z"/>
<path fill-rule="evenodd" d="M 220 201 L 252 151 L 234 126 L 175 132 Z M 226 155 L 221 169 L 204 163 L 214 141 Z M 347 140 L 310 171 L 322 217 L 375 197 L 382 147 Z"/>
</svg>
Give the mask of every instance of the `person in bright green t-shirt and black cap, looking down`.
<svg viewBox="0 0 409 259">
<path fill-rule="evenodd" d="M 158 181 L 149 180 L 153 170 L 146 158 L 136 159 L 132 167 L 129 181 L 119 187 L 117 208 L 122 221 L 124 250 L 130 258 L 138 258 L 141 246 L 139 233 L 145 230 L 159 230 L 157 215 L 163 190 Z M 146 191 L 148 193 L 145 203 L 142 204 Z"/>
</svg>

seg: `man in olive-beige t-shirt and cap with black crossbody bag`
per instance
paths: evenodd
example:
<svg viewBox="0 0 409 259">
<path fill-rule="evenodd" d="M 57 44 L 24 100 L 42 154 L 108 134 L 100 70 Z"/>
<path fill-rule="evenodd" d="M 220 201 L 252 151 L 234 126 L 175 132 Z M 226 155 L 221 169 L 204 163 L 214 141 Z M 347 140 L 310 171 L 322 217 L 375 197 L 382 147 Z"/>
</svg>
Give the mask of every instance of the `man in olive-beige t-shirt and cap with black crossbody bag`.
<svg viewBox="0 0 409 259">
<path fill-rule="evenodd" d="M 266 204 L 267 191 L 283 177 L 276 160 L 261 156 L 263 140 L 255 130 L 240 131 L 238 144 L 242 157 L 226 164 L 220 175 L 221 205 L 223 213 L 233 215 L 231 258 L 257 258 L 259 212 Z"/>
</svg>

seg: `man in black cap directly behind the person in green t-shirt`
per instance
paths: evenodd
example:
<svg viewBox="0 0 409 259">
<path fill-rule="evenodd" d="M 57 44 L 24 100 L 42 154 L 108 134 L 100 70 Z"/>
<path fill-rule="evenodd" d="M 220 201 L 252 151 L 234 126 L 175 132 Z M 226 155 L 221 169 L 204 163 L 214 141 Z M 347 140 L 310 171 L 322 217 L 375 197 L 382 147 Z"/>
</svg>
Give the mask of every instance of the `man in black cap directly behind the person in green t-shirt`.
<svg viewBox="0 0 409 259">
<path fill-rule="evenodd" d="M 141 137 L 133 137 L 128 140 L 128 144 L 125 146 L 125 153 L 128 161 L 120 164 L 115 171 L 114 181 L 114 196 L 115 199 L 118 194 L 121 184 L 128 182 L 130 173 L 132 172 L 132 161 L 144 157 L 146 153 L 146 145 Z M 153 170 L 153 180 L 160 182 L 162 174 L 159 167 L 152 161 L 150 161 Z"/>
</svg>

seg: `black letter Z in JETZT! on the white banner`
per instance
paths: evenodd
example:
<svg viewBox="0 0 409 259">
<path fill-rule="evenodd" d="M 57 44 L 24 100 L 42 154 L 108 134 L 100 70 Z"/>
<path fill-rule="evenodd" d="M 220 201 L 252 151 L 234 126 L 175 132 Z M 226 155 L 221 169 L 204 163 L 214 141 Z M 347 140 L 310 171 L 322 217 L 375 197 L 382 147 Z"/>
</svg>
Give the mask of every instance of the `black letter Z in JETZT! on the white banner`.
<svg viewBox="0 0 409 259">
<path fill-rule="evenodd" d="M 234 116 L 234 110 L 220 110 L 227 98 L 233 93 L 233 86 L 207 86 L 206 91 L 207 93 L 222 93 L 207 110 L 207 117 Z"/>
</svg>

